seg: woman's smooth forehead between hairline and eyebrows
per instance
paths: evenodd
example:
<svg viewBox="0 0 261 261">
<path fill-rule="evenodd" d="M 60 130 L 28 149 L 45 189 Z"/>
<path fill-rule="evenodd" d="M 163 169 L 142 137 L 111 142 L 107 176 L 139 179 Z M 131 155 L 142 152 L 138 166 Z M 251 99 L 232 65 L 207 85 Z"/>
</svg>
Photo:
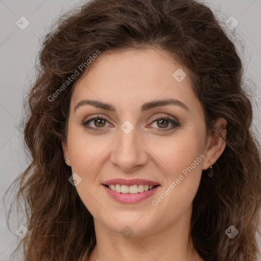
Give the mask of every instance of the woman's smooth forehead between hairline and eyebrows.
<svg viewBox="0 0 261 261">
<path fill-rule="evenodd" d="M 162 50 L 107 51 L 92 63 L 74 86 L 73 105 L 88 98 L 131 109 L 147 100 L 173 98 L 200 109 L 188 72 Z"/>
</svg>

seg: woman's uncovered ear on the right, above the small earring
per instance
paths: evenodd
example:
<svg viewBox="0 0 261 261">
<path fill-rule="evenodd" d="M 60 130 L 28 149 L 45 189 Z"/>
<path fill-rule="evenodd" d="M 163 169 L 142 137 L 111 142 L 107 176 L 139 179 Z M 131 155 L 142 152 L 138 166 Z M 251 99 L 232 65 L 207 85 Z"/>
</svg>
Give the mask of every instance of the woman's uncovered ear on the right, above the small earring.
<svg viewBox="0 0 261 261">
<path fill-rule="evenodd" d="M 224 118 L 218 118 L 214 125 L 215 131 L 211 131 L 207 137 L 204 153 L 205 159 L 202 164 L 203 170 L 210 168 L 218 160 L 226 147 L 223 139 L 226 138 L 227 121 Z"/>
</svg>

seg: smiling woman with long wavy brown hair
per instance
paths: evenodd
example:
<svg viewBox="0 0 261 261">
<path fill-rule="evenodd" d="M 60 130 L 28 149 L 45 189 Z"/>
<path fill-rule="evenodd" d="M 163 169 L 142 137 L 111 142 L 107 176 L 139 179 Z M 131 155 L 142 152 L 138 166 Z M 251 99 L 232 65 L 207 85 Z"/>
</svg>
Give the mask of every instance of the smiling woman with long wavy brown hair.
<svg viewBox="0 0 261 261">
<path fill-rule="evenodd" d="M 260 150 L 242 75 L 192 0 L 61 17 L 28 99 L 24 260 L 255 260 Z"/>
</svg>

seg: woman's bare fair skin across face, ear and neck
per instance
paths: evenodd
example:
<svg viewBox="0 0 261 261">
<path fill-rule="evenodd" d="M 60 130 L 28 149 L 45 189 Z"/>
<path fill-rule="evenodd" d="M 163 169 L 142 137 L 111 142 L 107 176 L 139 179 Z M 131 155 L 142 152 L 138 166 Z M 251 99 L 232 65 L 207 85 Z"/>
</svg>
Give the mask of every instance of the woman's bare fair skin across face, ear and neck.
<svg viewBox="0 0 261 261">
<path fill-rule="evenodd" d="M 94 218 L 97 244 L 88 260 L 202 260 L 189 239 L 192 201 L 202 170 L 217 161 L 225 142 L 216 133 L 206 132 L 188 73 L 184 80 L 176 81 L 172 74 L 182 67 L 169 54 L 153 48 L 107 51 L 93 63 L 74 86 L 67 141 L 62 143 L 66 164 L 82 178 L 75 189 Z M 168 98 L 182 101 L 189 111 L 167 105 L 140 112 L 143 103 Z M 111 103 L 117 111 L 84 105 L 74 112 L 83 99 Z M 88 126 L 100 131 L 82 125 L 97 114 L 108 121 L 93 120 Z M 153 121 L 154 116 L 177 119 L 180 126 L 171 130 L 171 122 Z M 120 128 L 126 120 L 134 126 L 129 134 Z M 216 127 L 225 126 L 226 121 L 219 118 Z M 169 131 L 161 131 L 163 128 Z M 152 205 L 200 154 L 205 158 L 164 200 Z M 123 204 L 101 185 L 112 178 L 149 179 L 161 187 L 142 202 Z M 121 233 L 125 226 L 131 227 L 131 237 Z"/>
</svg>

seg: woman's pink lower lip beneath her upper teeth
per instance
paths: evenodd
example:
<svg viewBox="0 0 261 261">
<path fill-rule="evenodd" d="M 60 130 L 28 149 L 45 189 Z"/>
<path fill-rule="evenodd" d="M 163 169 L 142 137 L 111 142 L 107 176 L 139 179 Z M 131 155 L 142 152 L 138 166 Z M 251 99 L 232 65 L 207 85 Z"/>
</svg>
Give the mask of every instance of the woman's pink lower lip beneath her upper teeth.
<svg viewBox="0 0 261 261">
<path fill-rule="evenodd" d="M 160 187 L 160 186 L 156 186 L 152 190 L 144 191 L 137 194 L 127 194 L 127 193 L 124 194 L 124 193 L 118 193 L 116 191 L 113 191 L 104 185 L 102 186 L 103 188 L 105 188 L 109 196 L 111 196 L 113 199 L 117 200 L 118 202 L 125 203 L 125 204 L 133 204 L 133 203 L 141 202 L 142 200 L 152 196 L 156 192 L 156 190 L 158 190 L 158 188 Z"/>
</svg>

